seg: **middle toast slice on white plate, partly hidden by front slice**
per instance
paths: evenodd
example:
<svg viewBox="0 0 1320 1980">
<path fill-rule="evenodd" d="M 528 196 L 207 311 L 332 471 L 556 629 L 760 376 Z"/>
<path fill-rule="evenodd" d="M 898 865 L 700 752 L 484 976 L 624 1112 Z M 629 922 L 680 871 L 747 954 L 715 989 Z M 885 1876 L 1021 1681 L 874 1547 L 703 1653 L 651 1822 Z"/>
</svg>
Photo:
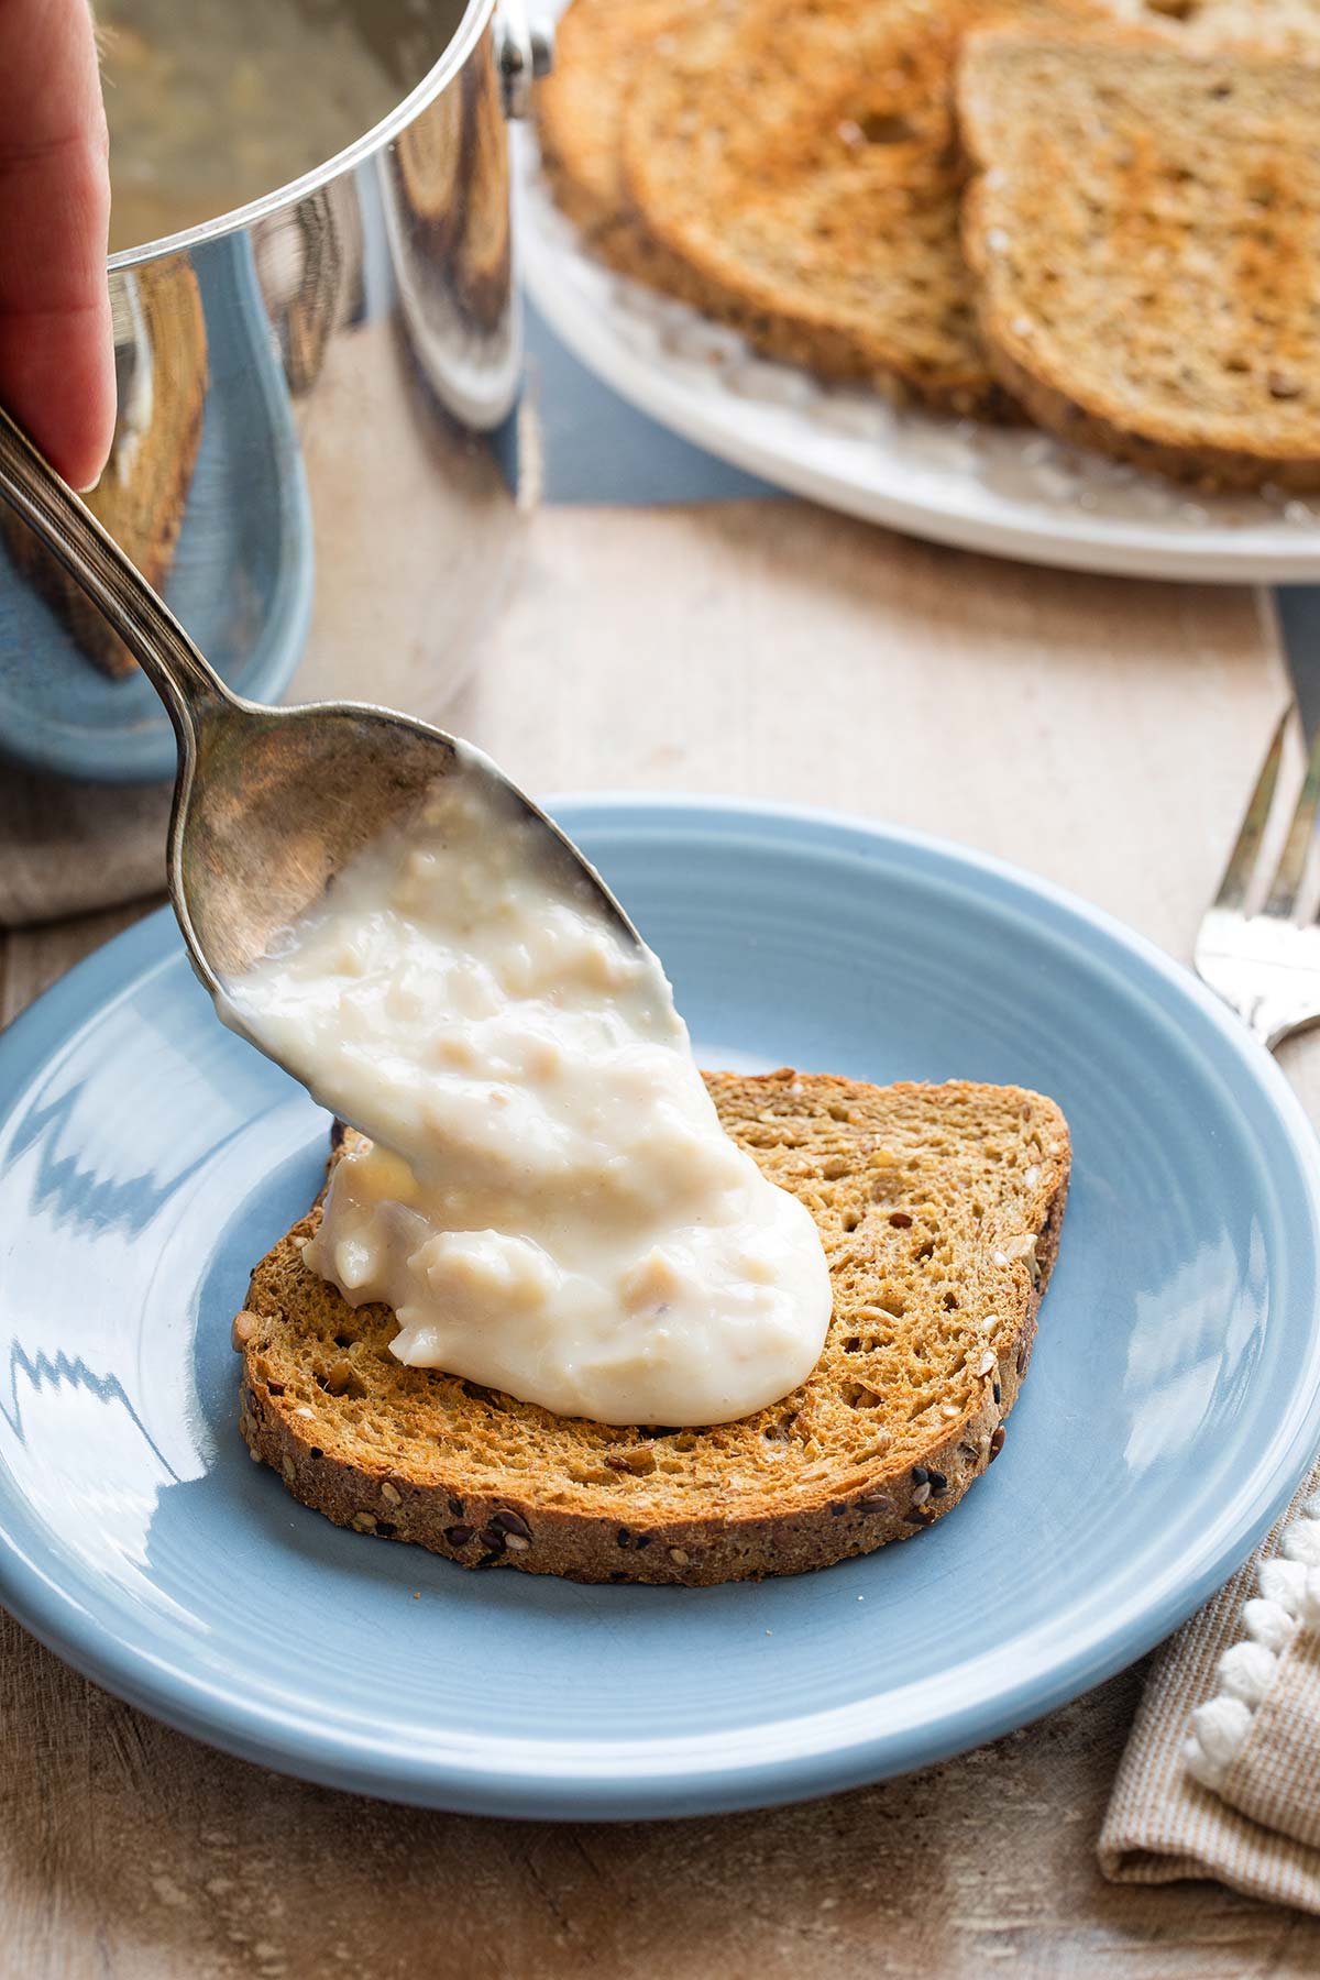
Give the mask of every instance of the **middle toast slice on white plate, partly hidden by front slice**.
<svg viewBox="0 0 1320 1980">
<path fill-rule="evenodd" d="M 708 0 L 635 75 L 623 174 L 705 305 L 772 356 L 952 412 L 1007 414 L 960 244 L 962 34 L 1084 0 Z"/>
</svg>

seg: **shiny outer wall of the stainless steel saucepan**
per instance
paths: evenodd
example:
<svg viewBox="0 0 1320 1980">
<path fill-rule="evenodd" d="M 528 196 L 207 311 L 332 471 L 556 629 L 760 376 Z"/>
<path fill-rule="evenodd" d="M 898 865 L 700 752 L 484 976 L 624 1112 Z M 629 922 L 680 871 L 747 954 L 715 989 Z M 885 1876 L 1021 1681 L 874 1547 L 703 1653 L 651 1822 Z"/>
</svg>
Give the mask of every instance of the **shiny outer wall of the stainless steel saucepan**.
<svg viewBox="0 0 1320 1980">
<path fill-rule="evenodd" d="M 293 184 L 111 255 L 99 513 L 251 699 L 435 717 L 519 537 L 507 119 L 520 6 L 412 0 L 418 85 Z M 154 695 L 49 554 L 0 529 L 0 750 L 168 776 Z"/>
</svg>

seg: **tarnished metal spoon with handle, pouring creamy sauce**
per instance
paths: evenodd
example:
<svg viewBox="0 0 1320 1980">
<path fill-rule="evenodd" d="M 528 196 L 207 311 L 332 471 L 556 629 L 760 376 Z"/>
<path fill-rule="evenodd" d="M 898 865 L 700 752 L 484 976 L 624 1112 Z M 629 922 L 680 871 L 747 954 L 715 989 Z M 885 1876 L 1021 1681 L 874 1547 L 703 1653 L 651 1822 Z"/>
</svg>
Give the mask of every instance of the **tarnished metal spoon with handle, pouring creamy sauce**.
<svg viewBox="0 0 1320 1980">
<path fill-rule="evenodd" d="M 491 780 L 511 820 L 536 820 L 633 942 L 641 937 L 554 820 L 479 750 L 354 701 L 269 709 L 230 693 L 168 606 L 28 436 L 0 410 L 0 497 L 125 642 L 178 741 L 170 901 L 192 966 L 216 996 L 323 897 L 334 875 L 459 766 Z"/>
</svg>

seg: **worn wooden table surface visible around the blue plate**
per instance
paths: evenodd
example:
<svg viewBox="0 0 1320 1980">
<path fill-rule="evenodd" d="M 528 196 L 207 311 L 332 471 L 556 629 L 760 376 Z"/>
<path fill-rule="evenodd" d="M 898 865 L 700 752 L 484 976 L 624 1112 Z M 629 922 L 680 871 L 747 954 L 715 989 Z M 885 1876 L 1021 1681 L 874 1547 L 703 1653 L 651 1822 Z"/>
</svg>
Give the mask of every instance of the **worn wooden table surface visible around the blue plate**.
<svg viewBox="0 0 1320 1980">
<path fill-rule="evenodd" d="M 542 513 L 451 721 L 540 792 L 724 790 L 926 826 L 1185 956 L 1284 697 L 1249 592 L 736 503 Z M 0 1018 L 129 919 L 0 937 Z M 1320 1057 L 1302 1041 L 1286 1065 L 1318 1113 Z M 0 1974 L 1318 1972 L 1320 1919 L 1098 1877 L 1138 1691 L 1128 1671 L 993 1746 L 803 1808 L 556 1828 L 230 1760 L 0 1618 Z"/>
</svg>

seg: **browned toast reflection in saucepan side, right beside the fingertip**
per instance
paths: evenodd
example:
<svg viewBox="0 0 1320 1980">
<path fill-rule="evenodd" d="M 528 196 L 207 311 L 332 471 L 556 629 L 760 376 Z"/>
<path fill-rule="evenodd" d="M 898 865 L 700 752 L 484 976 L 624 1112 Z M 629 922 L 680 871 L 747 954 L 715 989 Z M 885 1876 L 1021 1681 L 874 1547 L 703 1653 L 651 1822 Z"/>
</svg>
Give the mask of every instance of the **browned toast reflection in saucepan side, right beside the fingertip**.
<svg viewBox="0 0 1320 1980">
<path fill-rule="evenodd" d="M 115 313 L 115 337 L 119 345 L 123 317 L 123 339 L 137 345 L 131 352 L 135 384 L 119 408 L 105 473 L 83 501 L 146 582 L 162 590 L 202 440 L 206 319 L 186 255 L 119 273 L 115 283 L 125 303 Z M 10 509 L 0 505 L 0 515 L 10 519 L 4 535 L 14 562 L 59 612 L 87 659 L 113 677 L 137 671 L 129 647 L 63 564 Z"/>
</svg>

